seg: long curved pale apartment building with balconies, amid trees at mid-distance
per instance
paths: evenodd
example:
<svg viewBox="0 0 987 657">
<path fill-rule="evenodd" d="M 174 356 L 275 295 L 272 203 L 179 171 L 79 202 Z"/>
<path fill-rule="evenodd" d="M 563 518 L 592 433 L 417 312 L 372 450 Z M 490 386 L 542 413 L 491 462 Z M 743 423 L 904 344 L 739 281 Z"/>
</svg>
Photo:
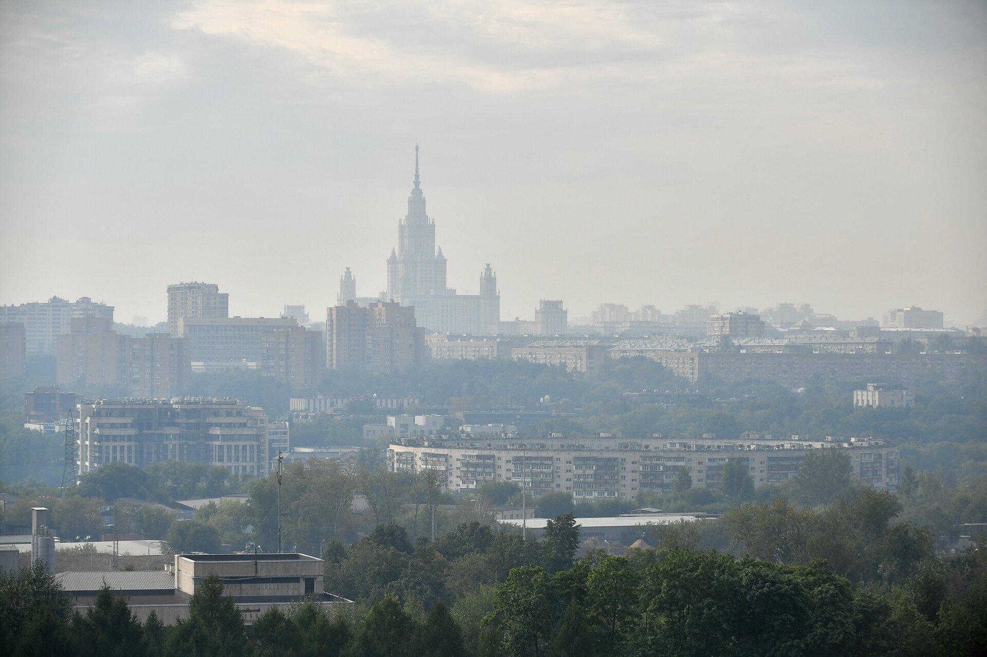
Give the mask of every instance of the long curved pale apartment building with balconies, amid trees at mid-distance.
<svg viewBox="0 0 987 657">
<path fill-rule="evenodd" d="M 875 488 L 894 490 L 898 449 L 883 440 L 669 440 L 667 438 L 409 438 L 388 447 L 391 472 L 444 474 L 447 490 L 473 490 L 512 481 L 533 495 L 572 493 L 576 502 L 634 499 L 645 490 L 670 492 L 680 470 L 693 487 L 720 485 L 723 467 L 742 463 L 755 486 L 779 483 L 798 472 L 808 454 L 837 449 L 850 456 L 853 474 Z"/>
</svg>

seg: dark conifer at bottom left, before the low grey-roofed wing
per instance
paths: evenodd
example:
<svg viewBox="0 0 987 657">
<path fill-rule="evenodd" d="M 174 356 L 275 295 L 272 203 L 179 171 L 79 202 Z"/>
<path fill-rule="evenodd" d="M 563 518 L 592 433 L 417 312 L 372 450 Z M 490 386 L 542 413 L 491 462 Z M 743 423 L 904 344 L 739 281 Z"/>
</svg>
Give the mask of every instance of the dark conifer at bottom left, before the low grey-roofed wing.
<svg viewBox="0 0 987 657">
<path fill-rule="evenodd" d="M 84 657 L 141 657 L 147 655 L 140 621 L 130 612 L 126 601 L 104 586 L 96 603 L 85 616 L 72 621 L 79 655 Z"/>
</svg>

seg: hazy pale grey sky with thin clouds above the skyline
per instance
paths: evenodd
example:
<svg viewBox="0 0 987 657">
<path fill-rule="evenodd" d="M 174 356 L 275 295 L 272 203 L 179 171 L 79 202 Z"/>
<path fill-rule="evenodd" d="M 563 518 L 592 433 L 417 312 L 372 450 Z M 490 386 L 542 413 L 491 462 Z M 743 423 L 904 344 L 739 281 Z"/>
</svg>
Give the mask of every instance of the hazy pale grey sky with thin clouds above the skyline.
<svg viewBox="0 0 987 657">
<path fill-rule="evenodd" d="M 987 309 L 987 3 L 0 1 L 0 303 Z"/>
</svg>

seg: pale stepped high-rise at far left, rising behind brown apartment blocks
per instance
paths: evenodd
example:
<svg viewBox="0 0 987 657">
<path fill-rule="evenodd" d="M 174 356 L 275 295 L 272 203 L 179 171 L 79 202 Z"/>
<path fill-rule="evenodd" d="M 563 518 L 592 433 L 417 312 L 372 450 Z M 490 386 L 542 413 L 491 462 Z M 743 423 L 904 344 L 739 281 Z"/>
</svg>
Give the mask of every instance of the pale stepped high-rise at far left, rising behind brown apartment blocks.
<svg viewBox="0 0 987 657">
<path fill-rule="evenodd" d="M 55 353 L 59 335 L 71 330 L 73 318 L 94 317 L 114 321 L 114 307 L 81 297 L 75 303 L 51 297 L 44 303 L 0 306 L 0 325 L 21 324 L 25 328 L 28 356 Z"/>
</svg>

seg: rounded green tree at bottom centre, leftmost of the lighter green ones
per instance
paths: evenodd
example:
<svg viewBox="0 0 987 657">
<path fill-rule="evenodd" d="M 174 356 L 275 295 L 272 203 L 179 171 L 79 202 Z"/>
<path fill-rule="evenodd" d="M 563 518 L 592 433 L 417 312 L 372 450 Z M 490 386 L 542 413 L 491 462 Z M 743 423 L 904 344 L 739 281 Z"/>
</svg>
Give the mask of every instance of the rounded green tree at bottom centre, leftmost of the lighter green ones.
<svg viewBox="0 0 987 657">
<path fill-rule="evenodd" d="M 499 621 L 503 644 L 516 657 L 545 654 L 555 617 L 552 578 L 538 566 L 520 566 L 510 571 L 493 599 L 493 614 Z"/>
</svg>

